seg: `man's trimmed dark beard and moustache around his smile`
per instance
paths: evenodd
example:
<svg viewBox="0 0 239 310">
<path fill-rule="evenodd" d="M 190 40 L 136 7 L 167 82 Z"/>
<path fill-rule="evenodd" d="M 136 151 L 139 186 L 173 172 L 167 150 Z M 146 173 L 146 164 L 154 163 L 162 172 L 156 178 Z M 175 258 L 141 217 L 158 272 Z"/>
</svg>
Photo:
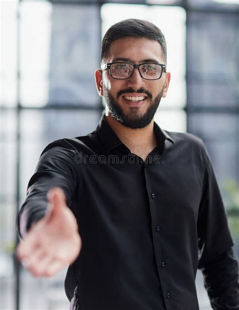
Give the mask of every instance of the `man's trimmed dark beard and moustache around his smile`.
<svg viewBox="0 0 239 310">
<path fill-rule="evenodd" d="M 109 112 L 111 114 L 111 116 L 118 122 L 120 122 L 122 125 L 124 125 L 125 127 L 131 128 L 131 129 L 138 129 L 138 128 L 144 128 L 146 127 L 153 119 L 162 94 L 163 94 L 163 88 L 160 91 L 160 93 L 155 97 L 155 99 L 152 99 L 152 94 L 147 91 L 144 88 L 140 88 L 137 91 L 129 88 L 129 89 L 125 89 L 125 90 L 120 90 L 117 93 L 117 97 L 114 98 L 108 91 L 108 89 L 103 86 L 103 91 L 104 91 L 104 99 L 105 99 L 105 104 L 107 105 Z M 121 108 L 119 102 L 118 102 L 118 98 L 120 97 L 120 95 L 124 94 L 124 93 L 145 93 L 148 96 L 149 99 L 149 107 L 147 109 L 147 111 L 144 113 L 144 115 L 141 115 L 139 112 L 138 107 L 131 107 L 130 108 L 130 112 L 128 114 L 126 114 L 123 109 Z"/>
</svg>

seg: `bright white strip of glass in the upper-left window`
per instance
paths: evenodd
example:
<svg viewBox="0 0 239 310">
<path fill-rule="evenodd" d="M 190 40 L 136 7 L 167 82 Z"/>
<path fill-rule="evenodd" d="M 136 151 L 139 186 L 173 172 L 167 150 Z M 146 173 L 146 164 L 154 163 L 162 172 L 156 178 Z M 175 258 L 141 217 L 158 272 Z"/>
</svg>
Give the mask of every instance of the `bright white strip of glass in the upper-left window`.
<svg viewBox="0 0 239 310">
<path fill-rule="evenodd" d="M 47 2 L 20 6 L 21 104 L 44 106 L 49 97 L 52 6 Z"/>
</svg>

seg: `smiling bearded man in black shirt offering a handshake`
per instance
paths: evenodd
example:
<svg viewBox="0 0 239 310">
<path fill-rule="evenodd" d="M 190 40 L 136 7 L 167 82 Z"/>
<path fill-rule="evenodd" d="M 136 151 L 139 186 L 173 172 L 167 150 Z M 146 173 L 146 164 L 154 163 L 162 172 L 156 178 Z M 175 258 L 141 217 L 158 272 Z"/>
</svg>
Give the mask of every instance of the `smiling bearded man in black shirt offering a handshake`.
<svg viewBox="0 0 239 310">
<path fill-rule="evenodd" d="M 196 310 L 198 268 L 212 307 L 238 309 L 204 144 L 153 121 L 170 82 L 161 31 L 137 19 L 110 27 L 95 79 L 106 115 L 92 133 L 44 149 L 19 215 L 19 259 L 35 276 L 69 263 L 72 309 Z"/>
</svg>

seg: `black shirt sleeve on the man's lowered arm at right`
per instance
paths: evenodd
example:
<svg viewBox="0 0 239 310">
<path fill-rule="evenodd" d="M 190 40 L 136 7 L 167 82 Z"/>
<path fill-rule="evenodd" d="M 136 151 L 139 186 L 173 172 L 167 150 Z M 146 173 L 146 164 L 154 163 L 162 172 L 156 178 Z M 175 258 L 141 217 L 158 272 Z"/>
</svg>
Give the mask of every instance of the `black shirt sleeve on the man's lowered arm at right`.
<svg viewBox="0 0 239 310">
<path fill-rule="evenodd" d="M 198 215 L 199 269 L 214 310 L 239 309 L 238 264 L 213 167 L 203 147 L 205 175 Z"/>
</svg>

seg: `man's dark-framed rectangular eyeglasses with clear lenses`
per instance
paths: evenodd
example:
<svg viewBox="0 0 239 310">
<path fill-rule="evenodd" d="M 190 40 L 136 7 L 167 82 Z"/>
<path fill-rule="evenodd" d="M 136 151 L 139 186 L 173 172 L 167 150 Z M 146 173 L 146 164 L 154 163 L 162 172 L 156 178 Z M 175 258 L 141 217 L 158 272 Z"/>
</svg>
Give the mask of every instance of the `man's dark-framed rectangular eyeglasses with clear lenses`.
<svg viewBox="0 0 239 310">
<path fill-rule="evenodd" d="M 166 65 L 158 63 L 129 64 L 129 63 L 109 63 L 101 66 L 101 70 L 109 69 L 109 74 L 117 80 L 125 80 L 131 77 L 134 68 L 139 70 L 142 78 L 145 80 L 158 80 L 162 72 L 166 72 Z"/>
</svg>

